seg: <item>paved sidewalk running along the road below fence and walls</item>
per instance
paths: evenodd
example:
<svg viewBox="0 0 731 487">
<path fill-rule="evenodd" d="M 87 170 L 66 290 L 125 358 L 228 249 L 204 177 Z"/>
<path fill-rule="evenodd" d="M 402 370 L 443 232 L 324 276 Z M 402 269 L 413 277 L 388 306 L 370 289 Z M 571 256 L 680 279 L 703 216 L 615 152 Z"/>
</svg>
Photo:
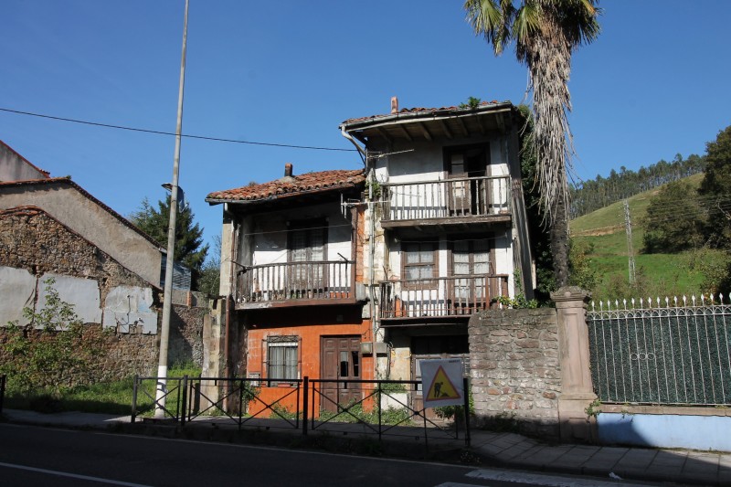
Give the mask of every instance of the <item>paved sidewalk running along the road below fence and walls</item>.
<svg viewBox="0 0 731 487">
<path fill-rule="evenodd" d="M 131 424 L 129 416 L 64 412 L 42 414 L 35 411 L 5 409 L 5 420 L 11 423 L 38 426 L 101 429 L 125 433 L 154 434 L 170 438 L 231 440 L 241 438 L 236 425 L 225 418 L 193 421 L 184 429 L 168 422 L 138 421 Z M 254 423 L 256 431 L 265 431 L 270 440 L 288 439 L 291 445 L 302 438 L 297 429 L 280 430 L 273 433 L 276 425 L 271 419 L 261 419 Z M 410 450 L 423 450 L 423 429 L 398 427 L 397 433 L 383 438 L 399 456 Z M 347 437 L 348 440 L 375 437 L 377 435 L 363 425 L 337 425 L 334 429 L 311 431 L 309 439 Z M 255 435 L 258 442 L 266 442 L 262 435 Z M 482 465 L 512 469 L 552 471 L 593 475 L 604 480 L 619 476 L 626 481 L 676 482 L 695 485 L 731 485 L 731 453 L 718 453 L 694 450 L 656 450 L 643 448 L 605 447 L 593 445 L 548 444 L 514 433 L 494 433 L 483 430 L 471 431 L 471 448 L 465 448 L 464 439 L 432 440 L 432 460 L 451 460 L 474 462 L 479 458 Z M 471 453 L 465 458 L 465 452 Z M 455 455 L 457 457 L 455 457 Z M 461 456 L 461 458 L 459 458 Z M 611 475 L 610 475 L 611 474 Z"/>
</svg>

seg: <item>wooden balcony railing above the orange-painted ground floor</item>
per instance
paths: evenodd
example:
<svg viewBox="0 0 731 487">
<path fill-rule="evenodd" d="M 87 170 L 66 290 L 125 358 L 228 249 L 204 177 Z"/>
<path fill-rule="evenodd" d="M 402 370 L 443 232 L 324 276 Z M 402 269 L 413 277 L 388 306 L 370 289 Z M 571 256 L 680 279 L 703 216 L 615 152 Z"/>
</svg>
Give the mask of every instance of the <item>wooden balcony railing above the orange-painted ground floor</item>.
<svg viewBox="0 0 731 487">
<path fill-rule="evenodd" d="M 355 303 L 354 271 L 350 260 L 248 267 L 238 275 L 236 307 L 258 309 Z"/>
</svg>

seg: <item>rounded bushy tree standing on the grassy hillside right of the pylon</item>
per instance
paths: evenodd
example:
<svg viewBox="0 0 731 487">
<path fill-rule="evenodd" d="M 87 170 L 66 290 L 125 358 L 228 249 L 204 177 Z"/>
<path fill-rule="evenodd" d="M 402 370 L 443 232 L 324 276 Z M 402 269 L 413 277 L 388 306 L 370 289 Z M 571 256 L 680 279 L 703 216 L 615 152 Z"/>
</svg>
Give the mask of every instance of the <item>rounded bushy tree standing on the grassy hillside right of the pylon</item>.
<svg viewBox="0 0 731 487">
<path fill-rule="evenodd" d="M 662 186 L 647 206 L 642 251 L 673 254 L 703 245 L 704 210 L 686 181 Z"/>
</svg>

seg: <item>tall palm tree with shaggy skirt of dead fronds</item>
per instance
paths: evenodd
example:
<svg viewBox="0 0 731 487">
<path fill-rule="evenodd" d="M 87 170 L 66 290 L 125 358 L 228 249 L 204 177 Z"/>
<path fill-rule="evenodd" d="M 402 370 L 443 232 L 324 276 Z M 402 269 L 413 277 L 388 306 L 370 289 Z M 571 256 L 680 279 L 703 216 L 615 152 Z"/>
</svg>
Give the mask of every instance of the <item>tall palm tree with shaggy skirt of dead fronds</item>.
<svg viewBox="0 0 731 487">
<path fill-rule="evenodd" d="M 533 92 L 534 150 L 539 205 L 550 227 L 556 286 L 568 284 L 568 179 L 574 154 L 567 111 L 571 55 L 599 36 L 598 0 L 466 0 L 475 34 L 495 55 L 515 42 Z M 517 5 L 517 7 L 516 7 Z"/>
</svg>

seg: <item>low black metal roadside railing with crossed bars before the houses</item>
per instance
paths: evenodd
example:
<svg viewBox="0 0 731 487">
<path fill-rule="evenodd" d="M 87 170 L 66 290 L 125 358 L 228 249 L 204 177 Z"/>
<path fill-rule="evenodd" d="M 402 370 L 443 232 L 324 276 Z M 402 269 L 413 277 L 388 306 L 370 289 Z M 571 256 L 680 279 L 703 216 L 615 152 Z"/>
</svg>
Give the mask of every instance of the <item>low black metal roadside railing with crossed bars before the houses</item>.
<svg viewBox="0 0 731 487">
<path fill-rule="evenodd" d="M 464 380 L 464 390 L 468 390 Z M 167 377 L 164 404 L 156 398 L 159 381 L 159 377 L 135 377 L 132 422 L 163 419 L 181 426 L 193 421 L 211 422 L 238 429 L 299 429 L 302 435 L 316 429 L 347 432 L 357 424 L 362 432 L 376 434 L 378 439 L 385 435 L 418 436 L 427 445 L 429 439 L 459 439 L 462 428 L 465 443 L 470 444 L 469 415 L 462 414 L 445 426 L 429 419 L 425 408 L 411 407 L 408 393 L 416 392 L 418 381 L 321 380 L 305 376 L 287 379 L 288 386 L 282 387 L 282 379 L 277 378 Z M 337 399 L 343 390 L 354 386 L 359 392 L 354 400 L 343 404 Z M 465 399 L 465 410 L 467 407 Z M 420 432 L 415 435 L 414 430 Z"/>
</svg>

